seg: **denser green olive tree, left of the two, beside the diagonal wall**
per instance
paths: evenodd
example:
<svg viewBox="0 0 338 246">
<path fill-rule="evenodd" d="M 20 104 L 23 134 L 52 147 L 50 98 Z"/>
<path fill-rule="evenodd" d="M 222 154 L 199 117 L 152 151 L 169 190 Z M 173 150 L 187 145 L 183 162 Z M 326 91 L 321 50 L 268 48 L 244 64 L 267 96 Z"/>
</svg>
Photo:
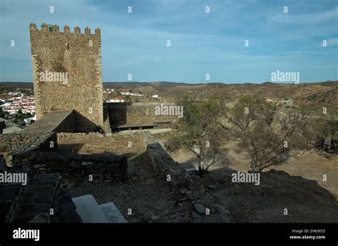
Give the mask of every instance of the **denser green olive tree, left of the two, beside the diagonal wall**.
<svg viewBox="0 0 338 246">
<path fill-rule="evenodd" d="M 169 151 L 187 149 L 198 158 L 198 171 L 203 175 L 202 165 L 205 170 L 212 165 L 205 160 L 205 156 L 215 156 L 220 151 L 220 143 L 224 140 L 224 129 L 218 117 L 220 104 L 213 99 L 196 101 L 191 95 L 178 97 L 175 102 L 183 106 L 183 117 L 178 119 L 178 130 L 168 140 L 166 147 Z"/>
</svg>

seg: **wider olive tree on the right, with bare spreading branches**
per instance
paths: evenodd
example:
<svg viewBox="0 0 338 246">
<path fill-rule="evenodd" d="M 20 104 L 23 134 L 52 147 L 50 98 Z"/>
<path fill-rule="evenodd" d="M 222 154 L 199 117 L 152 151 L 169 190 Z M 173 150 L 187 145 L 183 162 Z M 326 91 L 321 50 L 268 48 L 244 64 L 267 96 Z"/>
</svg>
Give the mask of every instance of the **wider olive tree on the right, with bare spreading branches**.
<svg viewBox="0 0 338 246">
<path fill-rule="evenodd" d="M 293 139 L 308 124 L 306 115 L 290 110 L 278 112 L 274 103 L 257 95 L 240 98 L 230 120 L 251 157 L 251 171 L 282 164 L 289 156 Z"/>
</svg>

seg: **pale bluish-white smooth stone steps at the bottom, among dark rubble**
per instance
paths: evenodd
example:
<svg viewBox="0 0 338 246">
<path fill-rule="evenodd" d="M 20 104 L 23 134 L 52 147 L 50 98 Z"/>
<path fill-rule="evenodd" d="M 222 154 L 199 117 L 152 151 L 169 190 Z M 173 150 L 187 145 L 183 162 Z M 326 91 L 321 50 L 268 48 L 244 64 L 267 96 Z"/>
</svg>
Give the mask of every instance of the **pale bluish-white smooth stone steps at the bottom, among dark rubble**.
<svg viewBox="0 0 338 246">
<path fill-rule="evenodd" d="M 78 196 L 72 200 L 83 223 L 127 223 L 112 202 L 98 205 L 92 195 Z"/>
</svg>

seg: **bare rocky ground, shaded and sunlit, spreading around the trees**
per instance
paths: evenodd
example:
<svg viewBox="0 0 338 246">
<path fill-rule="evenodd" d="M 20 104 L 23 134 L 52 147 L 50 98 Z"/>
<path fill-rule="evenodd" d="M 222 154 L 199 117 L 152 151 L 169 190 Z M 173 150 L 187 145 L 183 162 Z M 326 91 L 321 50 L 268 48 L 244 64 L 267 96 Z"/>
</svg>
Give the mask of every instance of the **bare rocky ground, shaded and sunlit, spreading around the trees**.
<svg viewBox="0 0 338 246">
<path fill-rule="evenodd" d="M 102 141 L 91 145 L 97 151 L 114 148 L 102 146 Z M 224 156 L 219 156 L 219 162 L 201 178 L 205 189 L 216 198 L 212 203 L 217 211 L 212 211 L 210 216 L 203 215 L 205 208 L 192 205 L 159 178 L 142 154 L 141 145 L 137 154 L 129 155 L 128 181 L 63 184 L 73 197 L 92 194 L 99 204 L 113 201 L 129 223 L 221 222 L 220 216 L 226 218 L 222 222 L 230 223 L 338 222 L 337 156 L 316 151 L 294 152 L 287 164 L 273 167 L 280 171 L 261 173 L 260 185 L 255 186 L 231 182 L 232 173 L 250 169 L 250 159 L 233 143 L 226 147 Z M 121 149 L 120 153 L 128 150 Z M 173 157 L 186 168 L 195 166 L 194 156 L 188 153 L 179 152 Z M 323 173 L 327 174 L 327 181 L 322 181 Z"/>
</svg>

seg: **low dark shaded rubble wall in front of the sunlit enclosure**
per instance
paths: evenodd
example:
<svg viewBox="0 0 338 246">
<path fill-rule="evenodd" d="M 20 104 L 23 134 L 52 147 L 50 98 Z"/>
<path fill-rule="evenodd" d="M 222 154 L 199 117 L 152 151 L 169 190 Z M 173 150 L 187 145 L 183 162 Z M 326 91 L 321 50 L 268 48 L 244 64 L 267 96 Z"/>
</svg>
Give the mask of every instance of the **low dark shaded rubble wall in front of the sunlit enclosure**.
<svg viewBox="0 0 338 246">
<path fill-rule="evenodd" d="M 30 151 L 12 155 L 11 166 L 29 166 L 35 173 L 61 173 L 66 178 L 125 181 L 128 177 L 126 156 L 102 154 L 68 154 L 63 152 Z"/>
</svg>

